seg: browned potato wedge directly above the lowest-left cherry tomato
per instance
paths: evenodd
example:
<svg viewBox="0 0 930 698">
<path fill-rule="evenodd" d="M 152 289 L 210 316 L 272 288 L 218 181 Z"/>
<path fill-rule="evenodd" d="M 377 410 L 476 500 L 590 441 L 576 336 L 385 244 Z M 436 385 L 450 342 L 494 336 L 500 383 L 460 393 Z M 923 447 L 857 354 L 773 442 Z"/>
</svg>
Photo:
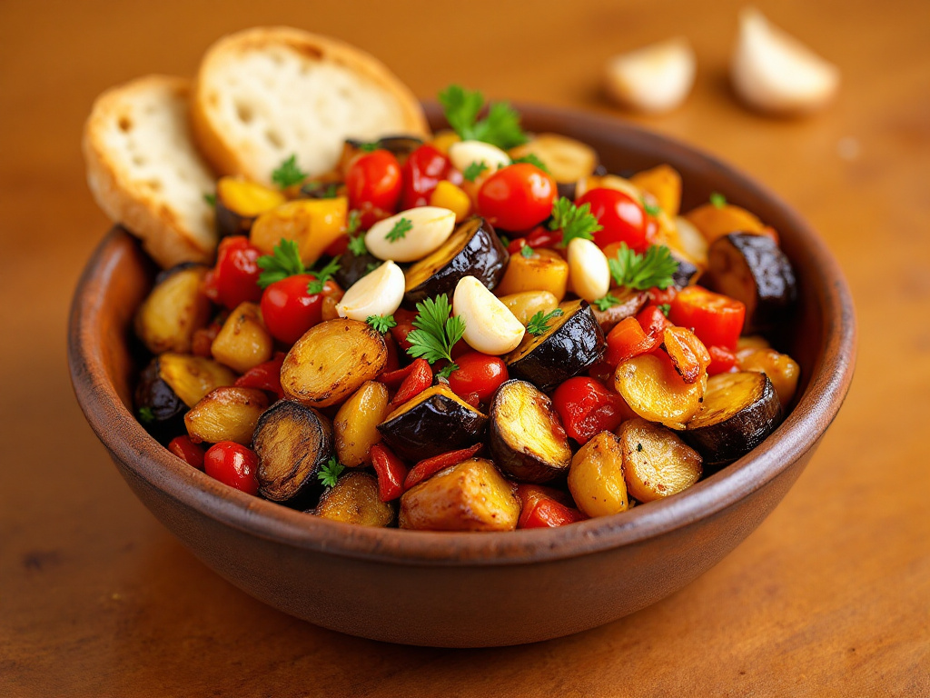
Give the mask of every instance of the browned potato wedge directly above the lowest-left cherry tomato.
<svg viewBox="0 0 930 698">
<path fill-rule="evenodd" d="M 265 409 L 268 397 L 262 391 L 230 385 L 207 393 L 184 415 L 184 425 L 194 443 L 235 441 L 248 446 Z"/>
</svg>

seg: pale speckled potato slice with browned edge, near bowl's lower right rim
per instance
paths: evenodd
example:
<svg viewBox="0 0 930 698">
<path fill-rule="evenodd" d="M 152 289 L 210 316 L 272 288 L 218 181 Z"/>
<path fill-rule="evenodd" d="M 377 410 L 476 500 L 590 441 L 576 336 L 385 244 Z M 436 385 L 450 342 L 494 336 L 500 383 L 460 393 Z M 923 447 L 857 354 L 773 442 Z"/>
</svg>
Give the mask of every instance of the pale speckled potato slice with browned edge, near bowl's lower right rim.
<svg viewBox="0 0 930 698">
<path fill-rule="evenodd" d="M 700 479 L 701 457 L 664 426 L 637 417 L 620 424 L 627 491 L 652 502 L 686 490 Z"/>
</svg>

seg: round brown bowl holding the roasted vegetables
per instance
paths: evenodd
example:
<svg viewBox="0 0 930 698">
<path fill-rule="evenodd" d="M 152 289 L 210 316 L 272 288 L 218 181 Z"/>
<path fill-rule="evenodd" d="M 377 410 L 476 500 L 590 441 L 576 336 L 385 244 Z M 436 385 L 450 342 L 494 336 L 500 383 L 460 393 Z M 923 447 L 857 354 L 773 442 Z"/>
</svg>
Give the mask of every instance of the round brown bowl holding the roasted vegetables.
<svg viewBox="0 0 930 698">
<path fill-rule="evenodd" d="M 721 192 L 777 229 L 800 286 L 796 325 L 781 346 L 802 367 L 800 397 L 775 434 L 737 463 L 617 516 L 510 533 L 328 521 L 220 484 L 136 421 L 131 318 L 154 270 L 116 228 L 74 295 L 69 361 L 78 402 L 155 517 L 207 566 L 276 609 L 351 635 L 439 647 L 519 644 L 608 623 L 682 588 L 746 538 L 801 474 L 843 403 L 856 354 L 853 304 L 837 263 L 796 213 L 681 143 L 601 116 L 521 110 L 526 128 L 591 143 L 611 171 L 670 163 L 684 178 L 685 210 Z M 436 124 L 434 107 L 430 114 Z"/>
</svg>

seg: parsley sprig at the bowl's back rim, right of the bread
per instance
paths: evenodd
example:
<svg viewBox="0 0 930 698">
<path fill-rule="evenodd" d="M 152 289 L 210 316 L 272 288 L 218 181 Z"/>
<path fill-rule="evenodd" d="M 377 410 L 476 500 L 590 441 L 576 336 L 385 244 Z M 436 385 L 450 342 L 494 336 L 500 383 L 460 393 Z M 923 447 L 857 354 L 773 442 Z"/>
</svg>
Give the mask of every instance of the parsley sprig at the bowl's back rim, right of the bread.
<svg viewBox="0 0 930 698">
<path fill-rule="evenodd" d="M 445 111 L 445 120 L 455 129 L 462 141 L 485 141 L 508 150 L 527 141 L 520 128 L 520 114 L 505 101 L 490 104 L 487 115 L 478 119 L 485 106 L 485 97 L 477 90 L 450 85 L 439 93 Z"/>
</svg>

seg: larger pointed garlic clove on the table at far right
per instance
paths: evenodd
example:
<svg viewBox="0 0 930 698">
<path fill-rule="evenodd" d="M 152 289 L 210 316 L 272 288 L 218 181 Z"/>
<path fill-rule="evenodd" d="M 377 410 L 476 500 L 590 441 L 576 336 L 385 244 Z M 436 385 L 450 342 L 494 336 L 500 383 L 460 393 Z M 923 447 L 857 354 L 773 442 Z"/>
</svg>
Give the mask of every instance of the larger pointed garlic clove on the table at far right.
<svg viewBox="0 0 930 698">
<path fill-rule="evenodd" d="M 830 101 L 839 87 L 840 71 L 748 7 L 739 16 L 730 79 L 751 107 L 772 114 L 804 114 Z"/>
</svg>

